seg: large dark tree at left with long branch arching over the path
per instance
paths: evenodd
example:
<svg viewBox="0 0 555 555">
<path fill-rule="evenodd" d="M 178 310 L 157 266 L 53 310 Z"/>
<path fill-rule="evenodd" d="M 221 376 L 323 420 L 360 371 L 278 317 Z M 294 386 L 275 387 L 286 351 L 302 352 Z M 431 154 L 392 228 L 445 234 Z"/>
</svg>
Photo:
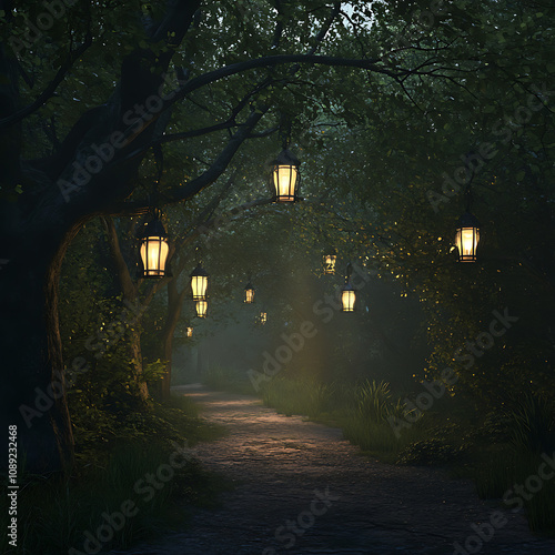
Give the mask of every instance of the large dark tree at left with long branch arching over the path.
<svg viewBox="0 0 555 555">
<path fill-rule="evenodd" d="M 0 3 L 8 37 L 0 52 L 2 407 L 6 423 L 20 425 L 32 470 L 71 457 L 58 385 L 58 282 L 84 222 L 190 201 L 216 182 L 245 141 L 265 137 L 256 128 L 275 128 L 280 114 L 302 114 L 303 123 L 322 107 L 342 107 L 347 122 L 362 121 L 367 103 L 357 101 L 366 87 L 377 97 L 394 87 L 411 98 L 430 81 L 464 91 L 468 73 L 482 68 L 467 49 L 483 12 L 462 1 L 430 11 L 432 24 L 423 23 L 418 2 L 389 10 L 351 2 L 345 11 L 320 0 L 181 0 L 144 3 L 141 13 L 108 0 L 52 6 L 47 13 L 30 1 L 17 9 Z M 406 32 L 404 20 L 417 32 L 401 47 L 398 34 L 393 43 L 375 42 L 384 37 L 372 24 L 380 19 L 389 30 Z M 188 159 L 176 141 L 188 141 Z M 185 178 L 155 189 L 151 152 L 168 165 L 179 161 Z"/>
</svg>

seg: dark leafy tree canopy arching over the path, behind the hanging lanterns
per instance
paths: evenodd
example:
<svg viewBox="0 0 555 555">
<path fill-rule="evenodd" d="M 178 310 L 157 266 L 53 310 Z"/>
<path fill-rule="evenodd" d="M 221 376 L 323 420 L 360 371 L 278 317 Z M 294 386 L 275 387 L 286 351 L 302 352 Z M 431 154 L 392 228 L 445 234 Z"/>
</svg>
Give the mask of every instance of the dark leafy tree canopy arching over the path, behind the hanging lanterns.
<svg viewBox="0 0 555 555">
<path fill-rule="evenodd" d="M 423 376 L 453 364 L 460 387 L 500 400 L 553 385 L 548 2 L 68 0 L 0 10 L 7 420 L 37 410 L 37 389 L 71 366 L 74 334 L 98 325 L 81 315 L 81 331 L 65 320 L 60 334 L 60 301 L 78 314 L 110 299 L 113 313 L 169 285 L 171 305 L 184 294 L 199 228 L 235 206 L 220 239 L 204 241 L 223 296 L 244 272 L 231 243 L 253 253 L 273 231 L 266 244 L 293 261 L 287 245 L 311 252 L 325 235 L 422 303 L 433 345 Z M 303 161 L 305 201 L 289 212 L 255 205 L 284 145 Z M 470 195 L 482 262 L 457 265 L 454 225 Z M 171 261 L 180 272 L 154 289 L 137 282 L 132 246 L 153 208 L 180 240 Z M 82 262 L 60 293 L 68 249 Z M 118 280 L 102 275 L 102 256 Z M 77 280 L 94 284 L 87 301 Z M 505 309 L 518 324 L 468 364 L 465 342 Z M 131 371 L 142 371 L 140 330 L 127 333 Z M 71 451 L 65 394 L 22 441 L 36 467 Z"/>
</svg>

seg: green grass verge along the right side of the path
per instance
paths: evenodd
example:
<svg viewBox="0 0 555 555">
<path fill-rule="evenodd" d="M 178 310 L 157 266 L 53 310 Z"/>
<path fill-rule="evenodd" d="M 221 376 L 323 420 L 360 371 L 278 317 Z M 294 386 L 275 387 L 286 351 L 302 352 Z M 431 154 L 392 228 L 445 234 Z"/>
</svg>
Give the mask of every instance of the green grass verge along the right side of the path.
<svg viewBox="0 0 555 555">
<path fill-rule="evenodd" d="M 223 376 L 219 385 L 225 389 L 226 372 L 218 372 Z M 515 485 L 526 487 L 528 478 L 538 475 L 542 454 L 555 457 L 555 404 L 531 394 L 508 400 L 509 410 L 490 414 L 470 408 L 460 395 L 444 397 L 420 420 L 385 382 L 323 384 L 282 373 L 263 384 L 261 396 L 285 415 L 342 427 L 345 438 L 382 461 L 441 465 L 453 477 L 472 478 L 481 498 L 500 500 L 508 509 L 521 503 Z M 389 420 L 404 415 L 412 424 L 395 434 Z M 526 491 L 522 505 L 532 531 L 554 533 L 555 476 L 542 481 L 537 492 Z"/>
</svg>

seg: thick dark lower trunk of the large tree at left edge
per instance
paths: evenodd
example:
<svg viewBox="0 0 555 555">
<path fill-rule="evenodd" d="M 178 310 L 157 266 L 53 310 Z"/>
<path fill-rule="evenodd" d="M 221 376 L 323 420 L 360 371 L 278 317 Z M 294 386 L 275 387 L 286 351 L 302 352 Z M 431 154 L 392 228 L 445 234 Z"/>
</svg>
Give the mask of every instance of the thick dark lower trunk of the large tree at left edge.
<svg viewBox="0 0 555 555">
<path fill-rule="evenodd" d="M 28 248 L 0 271 L 2 430 L 18 426 L 20 468 L 30 472 L 58 470 L 73 456 L 57 310 L 60 265 L 73 234 L 27 236 Z M 87 367 L 84 357 L 73 362 L 75 371 Z"/>
</svg>

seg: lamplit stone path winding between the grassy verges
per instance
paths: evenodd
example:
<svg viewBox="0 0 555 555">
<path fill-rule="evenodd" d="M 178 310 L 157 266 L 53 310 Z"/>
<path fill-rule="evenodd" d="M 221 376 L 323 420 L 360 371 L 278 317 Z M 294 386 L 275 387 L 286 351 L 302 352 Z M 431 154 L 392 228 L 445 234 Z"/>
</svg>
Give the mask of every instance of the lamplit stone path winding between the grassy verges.
<svg viewBox="0 0 555 555">
<path fill-rule="evenodd" d="M 531 535 L 524 517 L 507 511 L 506 524 L 482 542 L 471 525 L 488 523 L 497 507 L 481 502 L 467 481 L 369 460 L 340 430 L 279 415 L 254 397 L 178 391 L 230 427 L 194 453 L 236 488 L 188 532 L 125 555 L 555 554 L 555 541 Z M 473 551 L 457 553 L 453 543 L 464 546 L 471 535 Z"/>
</svg>

